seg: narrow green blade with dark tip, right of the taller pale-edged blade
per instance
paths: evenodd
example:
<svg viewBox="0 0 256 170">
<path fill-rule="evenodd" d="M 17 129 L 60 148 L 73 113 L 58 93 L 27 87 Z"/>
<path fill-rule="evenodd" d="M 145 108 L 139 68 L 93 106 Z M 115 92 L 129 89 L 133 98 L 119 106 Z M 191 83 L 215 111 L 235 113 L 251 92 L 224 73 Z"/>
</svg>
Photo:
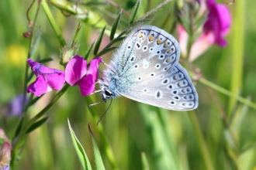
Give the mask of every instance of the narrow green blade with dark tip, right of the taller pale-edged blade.
<svg viewBox="0 0 256 170">
<path fill-rule="evenodd" d="M 90 128 L 90 124 L 88 124 L 88 129 L 90 131 L 90 133 L 92 134 L 92 130 Z M 98 148 L 98 145 L 95 141 L 95 138 L 92 134 L 92 148 L 93 148 L 93 153 L 94 153 L 94 158 L 95 158 L 95 165 L 96 165 L 96 169 L 98 170 L 103 170 L 105 169 L 104 165 L 103 165 L 103 162 L 102 162 L 102 157 L 99 153 L 99 148 Z"/>
</svg>

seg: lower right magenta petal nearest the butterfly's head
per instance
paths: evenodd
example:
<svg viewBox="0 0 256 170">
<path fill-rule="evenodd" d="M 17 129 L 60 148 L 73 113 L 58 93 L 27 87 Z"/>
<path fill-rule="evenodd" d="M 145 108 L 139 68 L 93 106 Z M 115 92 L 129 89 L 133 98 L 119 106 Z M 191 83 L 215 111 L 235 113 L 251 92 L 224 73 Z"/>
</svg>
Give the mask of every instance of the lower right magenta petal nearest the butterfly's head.
<svg viewBox="0 0 256 170">
<path fill-rule="evenodd" d="M 88 74 L 85 76 L 78 86 L 80 87 L 82 96 L 88 96 L 89 94 L 93 93 L 95 91 L 95 81 L 93 80 L 93 75 Z"/>
</svg>

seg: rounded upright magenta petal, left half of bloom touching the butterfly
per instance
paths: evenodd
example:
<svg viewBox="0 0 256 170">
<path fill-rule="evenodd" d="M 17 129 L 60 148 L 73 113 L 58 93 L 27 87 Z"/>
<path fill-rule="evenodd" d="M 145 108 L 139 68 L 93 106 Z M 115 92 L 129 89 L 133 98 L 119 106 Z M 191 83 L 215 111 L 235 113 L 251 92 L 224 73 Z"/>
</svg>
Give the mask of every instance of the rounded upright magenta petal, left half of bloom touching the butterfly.
<svg viewBox="0 0 256 170">
<path fill-rule="evenodd" d="M 68 63 L 65 69 L 65 80 L 71 86 L 79 83 L 81 78 L 87 72 L 87 62 L 81 56 L 74 56 Z"/>
</svg>

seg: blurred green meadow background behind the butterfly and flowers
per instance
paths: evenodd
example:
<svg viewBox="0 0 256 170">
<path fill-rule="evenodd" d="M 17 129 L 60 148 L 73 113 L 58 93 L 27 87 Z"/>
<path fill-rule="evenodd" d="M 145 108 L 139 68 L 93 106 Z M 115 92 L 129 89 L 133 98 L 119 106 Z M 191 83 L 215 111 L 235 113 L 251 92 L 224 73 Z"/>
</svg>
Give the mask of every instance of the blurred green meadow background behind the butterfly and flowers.
<svg viewBox="0 0 256 170">
<path fill-rule="evenodd" d="M 135 4 L 135 1 L 114 2 L 130 13 Z M 142 1 L 137 19 L 161 2 Z M 6 116 L 3 108 L 12 97 L 22 93 L 24 88 L 29 39 L 25 39 L 22 33 L 29 31 L 26 10 L 30 3 L 31 1 L 24 0 L 0 2 L 0 128 L 9 139 L 13 137 L 19 117 Z M 175 1 L 169 2 L 154 12 L 148 24 L 169 32 L 174 19 L 171 11 L 174 3 Z M 48 5 L 64 39 L 72 39 L 78 26 L 78 19 L 50 3 Z M 29 12 L 32 20 L 36 6 L 34 4 Z M 237 0 L 233 5 L 227 6 L 232 15 L 232 26 L 227 36 L 228 46 L 212 46 L 193 64 L 199 67 L 206 80 L 256 102 L 256 12 L 252 8 L 256 6 L 256 2 Z M 112 26 L 119 13 L 118 8 L 106 2 L 85 4 L 85 8 L 99 15 L 102 22 L 108 23 L 108 26 Z M 122 15 L 119 32 L 126 28 L 128 21 L 126 15 Z M 59 65 L 61 44 L 43 8 L 40 8 L 36 30 L 39 27 L 42 34 L 36 55 L 40 55 L 41 59 L 51 57 L 54 61 L 47 63 L 47 66 L 64 70 Z M 88 46 L 97 39 L 97 30 L 100 32 L 101 29 L 95 29 L 88 21 L 81 22 L 78 54 L 85 53 Z M 175 32 L 174 36 L 177 37 Z M 104 37 L 102 47 L 106 46 L 108 41 L 109 38 Z M 111 53 L 103 56 L 106 63 L 109 63 L 110 56 Z M 89 59 L 92 59 L 92 56 Z M 102 65 L 101 70 L 103 68 Z M 142 152 L 147 157 L 150 169 L 256 169 L 255 109 L 237 102 L 234 97 L 213 90 L 209 84 L 200 80 L 195 83 L 199 93 L 199 108 L 191 112 L 164 110 L 140 104 L 126 97 L 112 101 L 99 126 L 103 128 L 119 169 L 142 169 Z M 29 108 L 27 116 L 33 117 L 37 114 L 53 96 L 54 92 L 45 94 Z M 99 117 L 102 116 L 109 102 L 89 109 L 88 104 L 92 103 L 88 103 L 88 100 L 96 103 L 101 98 L 97 93 L 90 97 L 81 97 L 78 87 L 69 88 L 47 111 L 47 115 L 50 116 L 47 123 L 27 136 L 20 160 L 14 169 L 81 169 L 67 127 L 67 117 L 92 166 L 94 167 L 92 137 L 88 131 L 88 124 L 91 125 L 106 169 L 112 169 L 104 150 L 105 141 L 102 141 L 98 132 L 99 127 L 96 126 L 97 121 L 91 114 L 91 111 L 95 110 Z M 227 122 L 225 123 L 223 114 L 227 115 L 228 126 L 225 125 Z"/>
</svg>

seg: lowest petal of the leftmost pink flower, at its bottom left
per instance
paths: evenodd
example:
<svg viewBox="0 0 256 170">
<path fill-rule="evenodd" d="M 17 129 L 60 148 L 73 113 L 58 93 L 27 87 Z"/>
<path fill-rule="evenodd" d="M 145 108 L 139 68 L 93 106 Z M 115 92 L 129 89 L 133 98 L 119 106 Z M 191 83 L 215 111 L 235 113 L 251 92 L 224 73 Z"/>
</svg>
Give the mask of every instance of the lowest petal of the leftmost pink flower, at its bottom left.
<svg viewBox="0 0 256 170">
<path fill-rule="evenodd" d="M 36 81 L 31 83 L 26 89 L 27 93 L 33 93 L 38 97 L 40 97 L 43 93 L 47 93 L 48 91 L 50 91 L 50 88 L 48 87 L 43 76 L 37 76 Z"/>
</svg>

